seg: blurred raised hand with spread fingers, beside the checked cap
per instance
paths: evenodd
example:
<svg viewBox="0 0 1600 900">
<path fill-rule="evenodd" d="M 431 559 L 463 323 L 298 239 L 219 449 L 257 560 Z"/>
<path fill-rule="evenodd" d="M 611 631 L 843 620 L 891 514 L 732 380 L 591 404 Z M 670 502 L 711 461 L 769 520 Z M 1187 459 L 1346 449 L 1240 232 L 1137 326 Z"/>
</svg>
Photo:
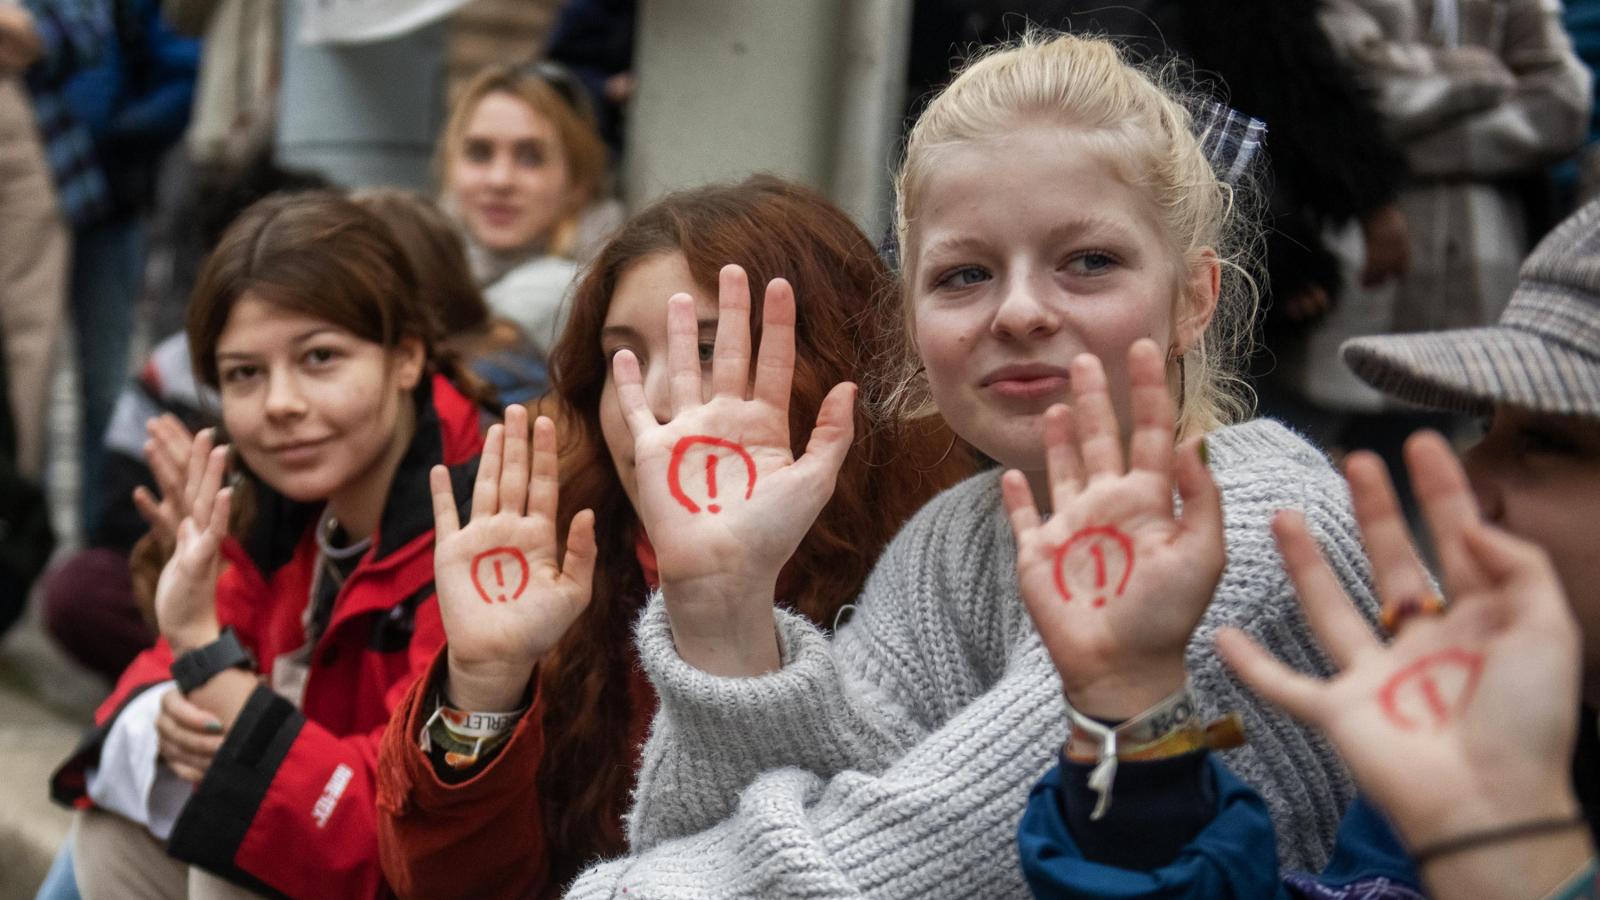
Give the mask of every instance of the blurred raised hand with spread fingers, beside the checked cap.
<svg viewBox="0 0 1600 900">
<path fill-rule="evenodd" d="M 1306 520 L 1282 512 L 1278 549 L 1341 671 L 1331 681 L 1304 676 L 1237 631 L 1221 633 L 1218 649 L 1256 693 L 1328 735 L 1413 849 L 1574 815 L 1579 642 L 1555 572 L 1539 548 L 1480 520 L 1442 437 L 1413 436 L 1406 463 L 1450 591 L 1442 615 L 1402 620 L 1382 644 Z M 1386 610 L 1426 609 L 1418 596 L 1430 588 L 1382 463 L 1352 455 L 1347 474 Z M 1541 894 L 1531 884 L 1520 890 Z"/>
</svg>

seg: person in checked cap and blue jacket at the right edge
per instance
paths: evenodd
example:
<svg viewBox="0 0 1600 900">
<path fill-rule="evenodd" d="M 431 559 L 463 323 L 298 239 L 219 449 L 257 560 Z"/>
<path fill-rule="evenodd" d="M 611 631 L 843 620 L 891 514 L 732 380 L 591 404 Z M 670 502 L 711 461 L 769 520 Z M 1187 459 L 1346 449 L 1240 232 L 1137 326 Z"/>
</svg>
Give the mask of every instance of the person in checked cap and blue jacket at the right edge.
<svg viewBox="0 0 1600 900">
<path fill-rule="evenodd" d="M 1240 679 L 1323 730 L 1363 790 L 1328 868 L 1278 871 L 1259 798 L 1205 740 L 1170 756 L 1123 745 L 1098 815 L 1094 765 L 1066 751 L 1034 790 L 1019 854 L 1037 897 L 1600 895 L 1600 202 L 1534 248 L 1496 325 L 1357 338 L 1342 356 L 1395 399 L 1488 428 L 1461 461 L 1432 432 L 1406 444 L 1448 604 L 1382 463 L 1354 453 L 1392 641 L 1328 581 L 1293 512 L 1275 522 L 1278 548 L 1341 674 L 1322 682 L 1218 637 Z M 1131 631 L 1158 618 L 1123 620 L 1114 644 L 1149 660 L 1149 634 Z"/>
</svg>

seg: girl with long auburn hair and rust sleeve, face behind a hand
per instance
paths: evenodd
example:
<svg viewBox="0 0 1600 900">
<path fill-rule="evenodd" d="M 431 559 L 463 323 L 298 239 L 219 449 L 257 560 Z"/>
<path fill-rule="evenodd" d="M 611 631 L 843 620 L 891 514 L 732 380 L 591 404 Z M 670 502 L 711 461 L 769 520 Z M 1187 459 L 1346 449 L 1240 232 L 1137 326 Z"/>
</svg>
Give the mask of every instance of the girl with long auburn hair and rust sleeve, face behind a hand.
<svg viewBox="0 0 1600 900">
<path fill-rule="evenodd" d="M 829 389 L 867 372 L 883 330 L 894 327 L 872 312 L 877 291 L 890 290 L 891 280 L 866 235 L 811 191 L 773 178 L 670 195 L 634 216 L 600 251 L 578 288 L 552 357 L 555 391 L 541 407 L 560 423 L 560 452 L 554 428 L 541 420 L 533 429 L 530 476 L 526 418 L 509 413 L 504 434 L 488 439 L 488 490 L 480 487 L 475 496 L 472 524 L 440 538 L 450 649 L 395 714 L 379 761 L 384 866 L 402 897 L 557 894 L 584 863 L 624 849 L 622 812 L 656 706 L 638 669 L 632 621 L 658 577 L 634 509 L 632 440 L 621 421 L 611 357 L 627 349 L 642 360 L 645 392 L 667 415 L 667 299 L 693 298 L 701 359 L 709 364 L 717 285 L 739 271 L 725 269 L 730 263 L 742 266 L 747 275 L 738 277 L 750 283 L 786 279 L 798 298 L 789 394 L 797 453 Z M 752 315 L 760 320 L 760 314 L 757 299 Z M 853 432 L 838 490 L 781 578 L 782 604 L 824 628 L 859 593 L 901 522 L 971 471 L 970 456 L 938 420 L 894 426 L 856 410 Z M 488 469 L 499 460 L 506 474 L 496 480 Z M 715 464 L 731 495 L 738 464 L 731 458 Z M 717 477 L 702 471 L 693 477 Z M 486 496 L 496 484 L 498 503 Z M 435 508 L 446 511 L 448 485 L 434 487 Z M 528 516 L 520 514 L 525 496 Z M 485 602 L 464 586 L 467 557 L 458 546 L 523 546 L 514 528 L 528 522 L 539 522 L 549 538 L 544 572 L 555 570 L 555 535 L 573 530 L 571 554 L 587 544 L 587 522 L 594 522 L 592 601 L 571 583 L 547 602 L 525 596 L 504 604 L 498 601 L 506 593 Z M 496 525 L 506 530 L 491 532 Z M 474 528 L 478 540 L 464 540 Z M 531 572 L 536 581 L 541 567 Z M 493 578 L 488 570 L 472 575 Z M 502 741 L 494 749 L 474 741 L 451 751 L 451 735 L 438 727 L 448 721 L 440 709 L 518 706 L 526 711 L 506 732 L 482 735 L 485 745 Z"/>
</svg>

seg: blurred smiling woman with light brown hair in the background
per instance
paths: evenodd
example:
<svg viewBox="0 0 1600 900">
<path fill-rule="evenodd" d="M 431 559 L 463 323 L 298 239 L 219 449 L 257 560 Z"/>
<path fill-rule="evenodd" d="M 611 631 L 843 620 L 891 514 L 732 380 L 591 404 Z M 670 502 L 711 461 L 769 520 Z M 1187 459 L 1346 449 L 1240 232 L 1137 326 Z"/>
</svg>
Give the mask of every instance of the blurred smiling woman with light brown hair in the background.
<svg viewBox="0 0 1600 900">
<path fill-rule="evenodd" d="M 442 205 L 461 224 L 494 312 L 549 356 L 594 235 L 605 144 L 581 96 L 546 69 L 496 66 L 461 90 L 438 141 Z"/>
</svg>

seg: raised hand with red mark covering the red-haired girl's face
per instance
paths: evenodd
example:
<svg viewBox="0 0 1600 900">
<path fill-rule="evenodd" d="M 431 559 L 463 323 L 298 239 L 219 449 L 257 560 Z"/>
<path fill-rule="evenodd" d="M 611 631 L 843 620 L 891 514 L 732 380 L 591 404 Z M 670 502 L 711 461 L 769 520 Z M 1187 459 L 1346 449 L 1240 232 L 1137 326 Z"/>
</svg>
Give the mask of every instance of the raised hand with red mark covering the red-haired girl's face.
<svg viewBox="0 0 1600 900">
<path fill-rule="evenodd" d="M 656 421 L 638 360 L 614 357 L 618 400 L 634 436 L 638 516 L 656 551 L 674 637 L 686 661 L 718 674 L 776 665 L 771 621 L 778 572 L 834 493 L 853 437 L 854 384 L 818 410 L 800 458 L 789 436 L 795 299 L 766 285 L 762 346 L 750 364 L 750 288 L 722 271 L 710 391 L 702 392 L 694 301 L 667 301 L 672 418 Z"/>
</svg>

